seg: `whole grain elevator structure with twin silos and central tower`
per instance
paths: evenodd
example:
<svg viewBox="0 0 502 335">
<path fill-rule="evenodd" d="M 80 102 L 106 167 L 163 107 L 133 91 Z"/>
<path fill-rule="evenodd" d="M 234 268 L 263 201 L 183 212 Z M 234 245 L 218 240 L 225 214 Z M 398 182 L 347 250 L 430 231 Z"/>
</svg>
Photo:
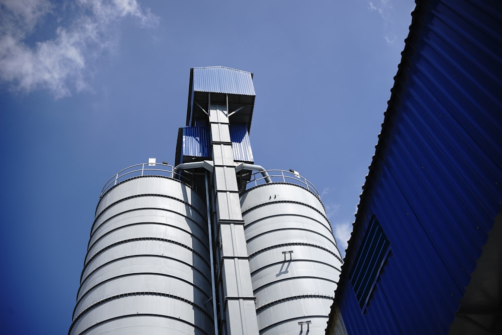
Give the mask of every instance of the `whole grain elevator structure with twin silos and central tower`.
<svg viewBox="0 0 502 335">
<path fill-rule="evenodd" d="M 253 74 L 193 68 L 174 166 L 105 184 L 69 334 L 323 334 L 341 258 L 315 187 L 255 165 Z"/>
</svg>

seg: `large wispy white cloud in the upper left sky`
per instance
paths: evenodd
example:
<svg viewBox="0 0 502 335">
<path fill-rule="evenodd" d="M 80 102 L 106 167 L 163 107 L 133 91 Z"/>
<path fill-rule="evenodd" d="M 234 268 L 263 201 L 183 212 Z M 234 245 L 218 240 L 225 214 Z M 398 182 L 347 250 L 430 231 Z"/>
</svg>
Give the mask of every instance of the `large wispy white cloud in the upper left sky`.
<svg viewBox="0 0 502 335">
<path fill-rule="evenodd" d="M 55 98 L 87 88 L 89 61 L 116 45 L 110 27 L 125 17 L 142 27 L 158 18 L 136 0 L 78 0 L 76 16 L 59 26 L 52 39 L 27 41 L 44 19 L 56 17 L 57 5 L 48 0 L 4 0 L 0 5 L 0 80 L 12 89 L 30 92 L 49 89 Z"/>
</svg>

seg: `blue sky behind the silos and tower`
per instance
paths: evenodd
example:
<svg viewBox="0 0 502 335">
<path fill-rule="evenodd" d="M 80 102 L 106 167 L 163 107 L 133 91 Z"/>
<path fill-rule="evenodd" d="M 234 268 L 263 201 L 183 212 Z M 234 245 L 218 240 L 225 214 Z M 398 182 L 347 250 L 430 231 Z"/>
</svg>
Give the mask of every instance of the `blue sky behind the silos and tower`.
<svg viewBox="0 0 502 335">
<path fill-rule="evenodd" d="M 99 192 L 174 162 L 191 67 L 255 74 L 255 162 L 317 187 L 343 253 L 413 8 L 0 0 L 2 333 L 68 331 Z"/>
</svg>

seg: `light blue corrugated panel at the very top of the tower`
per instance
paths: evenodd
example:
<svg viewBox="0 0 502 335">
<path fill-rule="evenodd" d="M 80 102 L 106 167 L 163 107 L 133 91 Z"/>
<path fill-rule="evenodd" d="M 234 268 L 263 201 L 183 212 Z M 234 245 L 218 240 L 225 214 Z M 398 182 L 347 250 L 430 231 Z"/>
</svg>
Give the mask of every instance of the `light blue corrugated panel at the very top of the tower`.
<svg viewBox="0 0 502 335">
<path fill-rule="evenodd" d="M 251 73 L 223 66 L 194 68 L 193 91 L 256 95 Z"/>
</svg>

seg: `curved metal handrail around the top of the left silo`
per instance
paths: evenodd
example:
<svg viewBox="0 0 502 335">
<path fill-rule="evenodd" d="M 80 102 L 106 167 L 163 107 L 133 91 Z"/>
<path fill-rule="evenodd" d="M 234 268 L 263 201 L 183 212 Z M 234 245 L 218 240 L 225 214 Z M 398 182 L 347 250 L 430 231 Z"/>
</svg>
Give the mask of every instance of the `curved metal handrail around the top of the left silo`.
<svg viewBox="0 0 502 335">
<path fill-rule="evenodd" d="M 160 165 L 160 167 L 158 167 Z M 150 167 L 155 166 L 155 168 Z M 181 180 L 181 175 L 179 173 L 173 173 L 174 167 L 172 165 L 164 163 L 140 163 L 132 165 L 125 169 L 122 169 L 115 173 L 108 181 L 104 184 L 103 189 L 99 197 L 102 197 L 106 191 L 115 186 L 116 184 L 128 180 L 134 177 L 140 176 L 164 176 L 173 178 L 174 175 L 180 176 L 177 179 Z"/>
</svg>

